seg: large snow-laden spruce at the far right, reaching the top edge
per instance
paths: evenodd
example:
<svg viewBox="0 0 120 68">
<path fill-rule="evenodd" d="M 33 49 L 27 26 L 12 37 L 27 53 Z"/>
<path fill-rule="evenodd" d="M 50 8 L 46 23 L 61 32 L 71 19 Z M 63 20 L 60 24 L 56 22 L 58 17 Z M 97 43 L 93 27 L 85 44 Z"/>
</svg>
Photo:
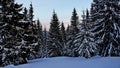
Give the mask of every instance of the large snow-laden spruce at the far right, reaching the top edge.
<svg viewBox="0 0 120 68">
<path fill-rule="evenodd" d="M 94 0 L 92 5 L 91 17 L 94 25 L 91 31 L 99 42 L 99 54 L 120 56 L 119 0 Z"/>
</svg>

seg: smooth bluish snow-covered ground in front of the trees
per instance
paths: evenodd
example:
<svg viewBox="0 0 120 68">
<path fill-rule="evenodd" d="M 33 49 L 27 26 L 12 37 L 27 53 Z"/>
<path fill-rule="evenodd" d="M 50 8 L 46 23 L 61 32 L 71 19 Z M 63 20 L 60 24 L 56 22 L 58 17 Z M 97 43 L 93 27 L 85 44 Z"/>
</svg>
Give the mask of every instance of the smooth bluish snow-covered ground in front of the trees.
<svg viewBox="0 0 120 68">
<path fill-rule="evenodd" d="M 120 68 L 120 57 L 94 57 L 91 59 L 56 57 L 29 61 L 19 66 L 5 68 Z"/>
</svg>

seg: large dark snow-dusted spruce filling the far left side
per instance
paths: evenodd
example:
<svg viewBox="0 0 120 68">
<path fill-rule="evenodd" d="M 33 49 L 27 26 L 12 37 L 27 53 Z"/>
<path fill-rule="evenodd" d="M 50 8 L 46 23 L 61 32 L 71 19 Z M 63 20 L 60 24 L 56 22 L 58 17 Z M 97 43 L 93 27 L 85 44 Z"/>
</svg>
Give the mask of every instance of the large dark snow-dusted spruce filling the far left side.
<svg viewBox="0 0 120 68">
<path fill-rule="evenodd" d="M 4 28 L 2 30 L 2 65 L 20 63 L 20 42 L 21 29 L 19 21 L 23 18 L 20 13 L 22 5 L 14 3 L 14 0 L 1 0 L 2 2 L 2 21 Z M 17 61 L 17 62 L 16 62 Z M 24 62 L 24 60 L 22 60 Z M 25 60 L 26 61 L 26 60 Z"/>
</svg>

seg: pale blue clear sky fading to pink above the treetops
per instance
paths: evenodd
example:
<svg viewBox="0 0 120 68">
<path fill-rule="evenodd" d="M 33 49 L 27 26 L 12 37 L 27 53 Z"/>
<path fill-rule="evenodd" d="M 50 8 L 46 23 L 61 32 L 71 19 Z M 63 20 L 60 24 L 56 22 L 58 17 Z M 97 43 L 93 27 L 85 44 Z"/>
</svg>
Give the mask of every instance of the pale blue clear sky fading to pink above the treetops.
<svg viewBox="0 0 120 68">
<path fill-rule="evenodd" d="M 90 8 L 92 0 L 16 0 L 24 7 L 29 8 L 32 2 L 34 8 L 34 18 L 40 19 L 44 26 L 49 25 L 53 10 L 56 11 L 58 18 L 65 24 L 70 22 L 73 8 L 76 8 L 78 16 L 81 17 L 82 11 Z"/>
</svg>

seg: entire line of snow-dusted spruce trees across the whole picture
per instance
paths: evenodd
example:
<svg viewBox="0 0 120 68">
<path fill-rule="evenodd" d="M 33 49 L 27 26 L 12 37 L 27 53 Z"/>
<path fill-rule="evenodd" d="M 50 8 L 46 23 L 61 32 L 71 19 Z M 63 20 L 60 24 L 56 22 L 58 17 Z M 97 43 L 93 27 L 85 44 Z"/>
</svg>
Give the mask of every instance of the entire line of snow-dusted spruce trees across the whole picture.
<svg viewBox="0 0 120 68">
<path fill-rule="evenodd" d="M 82 21 L 73 9 L 65 29 L 53 11 L 49 31 L 34 20 L 34 9 L 0 0 L 0 66 L 44 57 L 120 56 L 120 1 L 93 0 Z"/>
</svg>

